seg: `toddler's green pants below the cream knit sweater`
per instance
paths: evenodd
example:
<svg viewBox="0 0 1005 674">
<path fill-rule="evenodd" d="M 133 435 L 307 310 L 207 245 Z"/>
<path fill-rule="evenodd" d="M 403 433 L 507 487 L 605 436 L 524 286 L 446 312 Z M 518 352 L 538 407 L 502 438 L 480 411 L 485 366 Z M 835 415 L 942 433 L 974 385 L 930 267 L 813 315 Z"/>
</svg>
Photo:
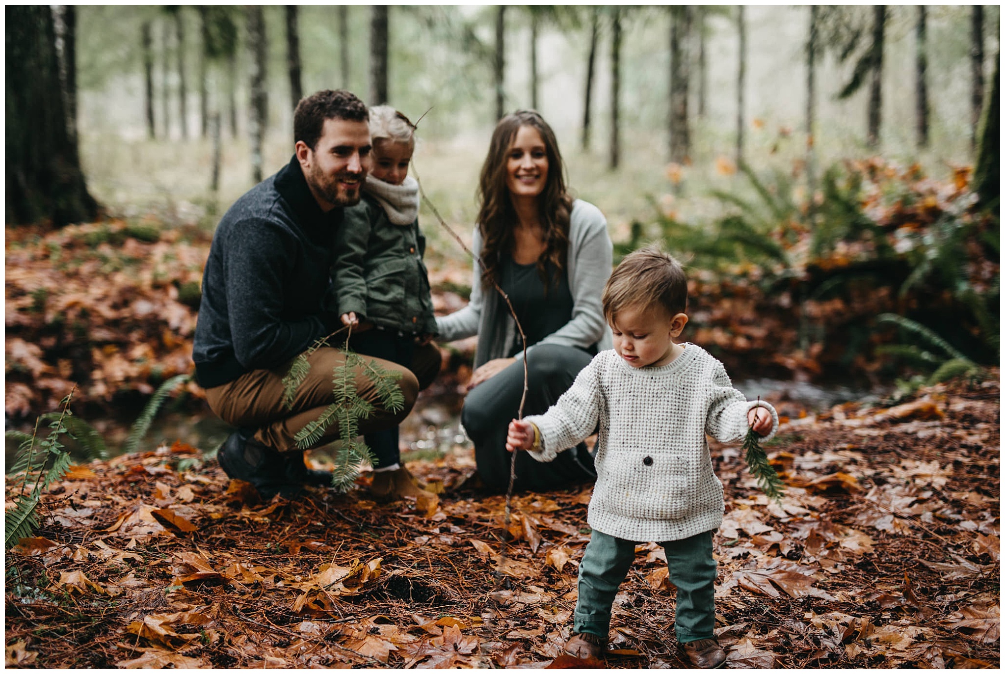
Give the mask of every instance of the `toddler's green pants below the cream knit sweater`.
<svg viewBox="0 0 1005 674">
<path fill-rule="evenodd" d="M 677 586 L 674 630 L 678 644 L 715 636 L 718 562 L 712 554 L 712 533 L 660 543 L 666 550 L 670 581 Z M 607 639 L 614 597 L 634 559 L 633 541 L 593 530 L 579 564 L 575 632 Z"/>
</svg>

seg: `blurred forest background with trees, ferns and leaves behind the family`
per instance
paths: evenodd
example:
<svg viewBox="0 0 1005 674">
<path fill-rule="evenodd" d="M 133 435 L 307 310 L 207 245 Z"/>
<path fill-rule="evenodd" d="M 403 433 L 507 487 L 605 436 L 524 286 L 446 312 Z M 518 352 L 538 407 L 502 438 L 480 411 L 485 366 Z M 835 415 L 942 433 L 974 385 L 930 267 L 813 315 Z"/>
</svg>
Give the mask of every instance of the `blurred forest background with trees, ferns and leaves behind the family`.
<svg viewBox="0 0 1005 674">
<path fill-rule="evenodd" d="M 8 425 L 190 371 L 213 228 L 320 89 L 422 118 L 412 170 L 468 239 L 495 121 L 539 110 L 616 255 L 680 257 L 687 339 L 745 375 L 910 390 L 999 362 L 997 6 L 5 13 Z M 471 263 L 420 221 L 452 310 Z"/>
</svg>

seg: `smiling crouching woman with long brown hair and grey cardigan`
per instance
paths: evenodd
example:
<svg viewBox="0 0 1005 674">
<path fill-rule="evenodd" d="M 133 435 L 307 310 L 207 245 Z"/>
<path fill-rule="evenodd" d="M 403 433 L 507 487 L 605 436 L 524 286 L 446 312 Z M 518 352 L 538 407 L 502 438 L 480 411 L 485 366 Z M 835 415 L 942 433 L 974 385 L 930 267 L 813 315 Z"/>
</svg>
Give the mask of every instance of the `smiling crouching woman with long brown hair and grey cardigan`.
<svg viewBox="0 0 1005 674">
<path fill-rule="evenodd" d="M 467 307 L 437 319 L 439 339 L 478 335 L 475 370 L 461 422 L 474 442 L 478 475 L 504 490 L 510 480 L 507 427 L 525 411 L 540 413 L 564 393 L 598 350 L 610 348 L 600 294 L 611 274 L 607 221 L 566 189 L 555 133 L 534 111 L 505 117 L 492 133 L 479 181 L 474 269 Z M 497 286 L 527 336 L 522 343 Z M 591 481 L 584 445 L 550 464 L 517 457 L 515 488 L 547 490 Z"/>
</svg>

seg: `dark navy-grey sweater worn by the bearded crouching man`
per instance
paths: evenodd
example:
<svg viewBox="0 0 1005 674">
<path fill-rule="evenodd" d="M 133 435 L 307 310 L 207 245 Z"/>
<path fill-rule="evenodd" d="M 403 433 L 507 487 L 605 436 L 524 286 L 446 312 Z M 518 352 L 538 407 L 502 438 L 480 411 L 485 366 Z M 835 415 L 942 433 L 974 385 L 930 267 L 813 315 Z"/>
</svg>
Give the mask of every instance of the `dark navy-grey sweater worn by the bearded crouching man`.
<svg viewBox="0 0 1005 674">
<path fill-rule="evenodd" d="M 223 215 L 202 278 L 192 359 L 204 388 L 287 362 L 339 325 L 324 310 L 333 234 L 294 156 Z"/>
</svg>

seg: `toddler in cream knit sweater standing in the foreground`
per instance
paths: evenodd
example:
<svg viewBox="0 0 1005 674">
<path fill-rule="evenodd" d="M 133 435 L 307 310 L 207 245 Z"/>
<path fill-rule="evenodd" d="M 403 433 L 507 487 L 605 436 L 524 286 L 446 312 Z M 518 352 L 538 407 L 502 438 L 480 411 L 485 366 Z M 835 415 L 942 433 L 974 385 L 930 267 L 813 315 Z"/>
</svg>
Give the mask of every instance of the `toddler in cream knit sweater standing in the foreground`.
<svg viewBox="0 0 1005 674">
<path fill-rule="evenodd" d="M 510 424 L 507 449 L 552 461 L 599 425 L 593 529 L 579 566 L 579 599 L 568 654 L 603 657 L 611 606 L 635 558 L 635 543 L 659 541 L 677 587 L 677 643 L 696 667 L 721 667 L 716 640 L 717 561 L 723 485 L 706 434 L 742 439 L 748 427 L 774 435 L 778 413 L 733 387 L 723 364 L 699 346 L 676 344 L 687 316 L 687 280 L 653 248 L 625 257 L 604 289 L 614 349 L 598 353 L 546 413 Z"/>
</svg>

